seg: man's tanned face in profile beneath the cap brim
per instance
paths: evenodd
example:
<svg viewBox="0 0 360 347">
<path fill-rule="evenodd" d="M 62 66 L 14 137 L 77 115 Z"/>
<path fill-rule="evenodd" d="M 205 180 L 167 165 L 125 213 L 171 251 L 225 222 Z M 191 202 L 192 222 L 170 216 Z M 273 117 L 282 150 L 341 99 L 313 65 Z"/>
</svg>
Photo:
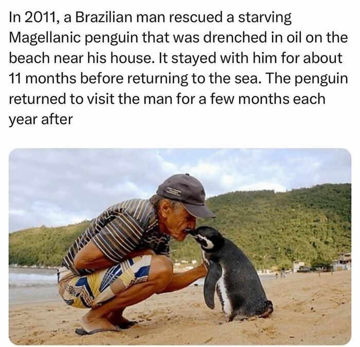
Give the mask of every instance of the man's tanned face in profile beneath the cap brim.
<svg viewBox="0 0 360 347">
<path fill-rule="evenodd" d="M 170 207 L 164 224 L 176 241 L 183 241 L 187 235 L 185 229 L 195 229 L 196 217 L 190 215 L 184 207 Z"/>
</svg>

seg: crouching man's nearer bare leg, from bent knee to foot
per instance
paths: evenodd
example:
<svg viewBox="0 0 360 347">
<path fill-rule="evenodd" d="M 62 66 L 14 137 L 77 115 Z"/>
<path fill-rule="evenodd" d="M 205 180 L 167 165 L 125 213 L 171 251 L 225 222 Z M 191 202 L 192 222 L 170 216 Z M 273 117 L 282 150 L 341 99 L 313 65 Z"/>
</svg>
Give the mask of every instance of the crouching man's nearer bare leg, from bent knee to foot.
<svg viewBox="0 0 360 347">
<path fill-rule="evenodd" d="M 108 319 L 112 312 L 123 311 L 125 307 L 143 301 L 155 293 L 161 293 L 171 281 L 172 274 L 170 259 L 164 256 L 152 256 L 148 281 L 134 284 L 109 302 L 91 309 L 82 318 L 83 329 L 87 332 L 95 329 L 115 329 Z"/>
</svg>

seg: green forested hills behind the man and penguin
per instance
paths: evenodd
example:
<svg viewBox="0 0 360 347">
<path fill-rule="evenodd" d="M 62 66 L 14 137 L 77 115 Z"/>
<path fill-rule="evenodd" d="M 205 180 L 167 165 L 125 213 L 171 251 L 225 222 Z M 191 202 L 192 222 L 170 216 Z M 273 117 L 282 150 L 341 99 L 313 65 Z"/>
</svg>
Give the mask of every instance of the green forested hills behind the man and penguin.
<svg viewBox="0 0 360 347">
<path fill-rule="evenodd" d="M 351 184 L 323 184 L 275 193 L 236 191 L 207 200 L 217 215 L 200 220 L 241 247 L 257 268 L 310 264 L 351 252 Z M 59 265 L 88 221 L 39 227 L 9 234 L 9 263 Z M 171 241 L 173 260 L 200 260 L 199 245 L 188 237 Z"/>
</svg>

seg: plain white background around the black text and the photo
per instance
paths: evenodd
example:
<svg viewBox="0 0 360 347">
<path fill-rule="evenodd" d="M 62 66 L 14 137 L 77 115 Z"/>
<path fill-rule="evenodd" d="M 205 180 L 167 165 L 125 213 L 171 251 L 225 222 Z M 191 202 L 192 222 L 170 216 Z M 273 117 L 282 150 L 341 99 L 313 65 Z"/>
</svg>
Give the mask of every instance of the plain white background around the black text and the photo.
<svg viewBox="0 0 360 347">
<path fill-rule="evenodd" d="M 1 26 L 1 67 L 2 67 L 2 119 L 1 119 L 1 164 L 2 175 L 2 194 L 1 211 L 4 221 L 2 235 L 2 263 L 4 276 L 8 264 L 8 156 L 14 148 L 32 147 L 67 147 L 67 148 L 129 148 L 129 147 L 321 147 L 321 148 L 346 148 L 352 155 L 352 201 L 353 201 L 353 298 L 352 298 L 352 340 L 354 345 L 358 340 L 356 331 L 357 310 L 355 305 L 359 302 L 356 299 L 358 290 L 357 281 L 357 231 L 359 227 L 356 211 L 358 210 L 358 177 L 359 177 L 359 149 L 358 149 L 358 12 L 356 2 L 353 1 L 307 1 L 285 2 L 285 1 L 257 1 L 257 2 L 209 2 L 209 1 L 182 1 L 182 2 L 160 2 L 160 1 L 138 1 L 138 2 L 45 2 L 45 1 L 13 1 L 9 4 L 2 4 L 2 26 Z M 149 24 L 149 25 L 110 25 L 110 24 L 68 24 L 47 26 L 43 24 L 9 24 L 9 11 L 24 13 L 26 10 L 55 10 L 59 18 L 63 13 L 74 13 L 82 10 L 88 13 L 102 13 L 106 10 L 115 10 L 119 13 L 269 13 L 272 10 L 278 13 L 292 13 L 293 24 L 284 26 L 282 24 L 265 25 L 246 25 L 233 23 L 226 24 Z M 264 30 L 274 30 L 277 32 L 293 32 L 302 30 L 303 32 L 326 33 L 334 30 L 338 33 L 346 33 L 349 36 L 348 44 L 341 45 L 246 45 L 246 46 L 226 46 L 225 44 L 213 45 L 171 45 L 161 46 L 137 44 L 128 47 L 109 46 L 101 48 L 91 46 L 60 46 L 45 45 L 29 48 L 28 45 L 9 45 L 9 31 L 21 30 L 23 32 L 45 32 L 53 30 L 58 32 L 123 32 L 126 30 L 140 33 L 150 30 L 155 33 L 182 32 L 182 33 L 205 33 L 209 30 L 220 32 L 235 33 L 242 30 L 248 32 L 262 32 Z M 88 65 L 82 64 L 74 66 L 52 66 L 36 65 L 10 66 L 8 64 L 8 51 L 11 50 L 20 54 L 28 51 L 46 51 L 48 54 L 66 53 L 82 54 L 85 50 L 91 51 L 123 51 L 136 52 L 142 54 L 153 54 L 159 50 L 171 54 L 184 53 L 205 54 L 217 50 L 218 52 L 240 51 L 243 49 L 248 53 L 253 50 L 266 51 L 268 54 L 276 54 L 282 51 L 305 54 L 305 52 L 321 51 L 323 53 L 338 52 L 343 53 L 344 64 L 338 66 L 304 66 L 304 65 L 228 65 L 217 66 L 175 66 L 170 65 L 135 65 L 135 66 L 116 66 L 110 64 Z M 151 71 L 149 71 L 151 68 Z M 279 71 L 282 73 L 336 73 L 339 71 L 348 74 L 349 84 L 329 87 L 319 87 L 307 85 L 305 87 L 293 87 L 291 85 L 274 86 L 267 85 L 265 81 L 261 85 L 225 85 L 225 86 L 26 86 L 11 85 L 8 74 L 12 71 L 30 71 L 33 73 L 50 73 L 51 71 L 64 71 L 68 74 L 77 73 L 80 70 L 94 73 L 106 71 L 107 73 L 203 73 L 219 71 L 223 74 L 258 74 L 264 71 Z M 263 80 L 265 80 L 263 78 Z M 191 89 L 192 88 L 192 89 Z M 24 92 L 39 94 L 59 94 L 66 91 L 79 94 L 105 93 L 109 91 L 123 92 L 129 94 L 174 94 L 182 91 L 185 94 L 209 94 L 212 91 L 224 94 L 268 94 L 276 91 L 279 94 L 314 94 L 320 91 L 326 96 L 327 104 L 317 106 L 295 106 L 295 105 L 262 105 L 262 106 L 239 106 L 239 105 L 166 105 L 166 106 L 15 106 L 9 107 L 8 95 Z M 50 112 L 59 114 L 73 114 L 74 122 L 71 126 L 17 126 L 9 128 L 8 115 L 14 114 L 38 114 L 46 115 Z M 149 168 L 151 169 L 151 168 Z M 7 288 L 4 290 L 4 297 Z M 6 298 L 4 299 L 6 301 Z M 5 303 L 4 303 L 5 306 Z M 3 310 L 4 320 L 2 324 L 2 340 L 10 344 L 8 340 L 8 314 Z M 301 327 L 299 327 L 301 329 Z"/>
</svg>

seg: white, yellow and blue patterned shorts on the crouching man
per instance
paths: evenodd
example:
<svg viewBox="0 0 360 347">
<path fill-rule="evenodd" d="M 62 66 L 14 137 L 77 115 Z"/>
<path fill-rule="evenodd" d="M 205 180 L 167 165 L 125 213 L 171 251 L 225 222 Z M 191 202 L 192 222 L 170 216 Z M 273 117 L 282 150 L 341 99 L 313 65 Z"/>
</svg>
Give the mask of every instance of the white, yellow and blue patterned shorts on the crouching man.
<svg viewBox="0 0 360 347">
<path fill-rule="evenodd" d="M 59 294 L 71 306 L 86 309 L 109 301 L 130 285 L 146 282 L 151 256 L 139 256 L 89 275 L 76 276 L 66 267 L 58 269 Z"/>
</svg>

